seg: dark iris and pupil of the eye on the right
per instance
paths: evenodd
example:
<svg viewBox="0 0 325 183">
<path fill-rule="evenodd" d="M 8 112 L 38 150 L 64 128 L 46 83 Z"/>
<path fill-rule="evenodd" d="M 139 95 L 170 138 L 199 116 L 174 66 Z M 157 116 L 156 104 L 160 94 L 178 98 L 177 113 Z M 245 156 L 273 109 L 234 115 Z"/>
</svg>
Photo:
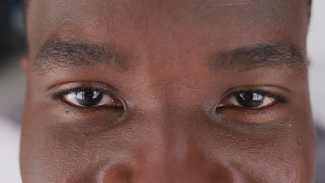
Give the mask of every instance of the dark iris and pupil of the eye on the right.
<svg viewBox="0 0 325 183">
<path fill-rule="evenodd" d="M 262 94 L 245 92 L 238 94 L 236 99 L 243 107 L 259 107 L 263 103 L 264 97 Z"/>
</svg>

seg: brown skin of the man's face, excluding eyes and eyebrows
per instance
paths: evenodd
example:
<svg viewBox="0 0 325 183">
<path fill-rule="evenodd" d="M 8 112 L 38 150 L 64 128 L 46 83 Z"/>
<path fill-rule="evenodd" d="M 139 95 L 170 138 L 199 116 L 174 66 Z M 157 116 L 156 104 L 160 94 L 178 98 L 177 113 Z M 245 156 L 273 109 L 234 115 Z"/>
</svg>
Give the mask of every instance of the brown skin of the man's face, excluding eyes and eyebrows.
<svg viewBox="0 0 325 183">
<path fill-rule="evenodd" d="M 313 182 L 306 70 L 254 67 L 249 57 L 246 67 L 209 59 L 276 42 L 306 58 L 307 1 L 32 0 L 27 26 L 24 183 Z M 64 54 L 40 54 L 53 37 L 114 45 L 118 56 L 108 63 L 105 55 L 98 57 L 103 62 L 77 55 L 60 67 Z M 84 58 L 88 63 L 74 64 Z M 84 108 L 51 98 L 99 83 L 114 88 L 110 94 L 122 106 Z M 289 102 L 220 107 L 242 87 Z"/>
</svg>

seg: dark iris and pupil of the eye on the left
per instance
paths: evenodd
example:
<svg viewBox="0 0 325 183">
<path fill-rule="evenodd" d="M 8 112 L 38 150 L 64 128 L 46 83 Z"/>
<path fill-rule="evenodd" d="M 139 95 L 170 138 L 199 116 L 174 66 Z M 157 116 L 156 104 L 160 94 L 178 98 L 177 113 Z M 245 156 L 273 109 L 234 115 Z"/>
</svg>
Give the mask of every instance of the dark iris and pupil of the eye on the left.
<svg viewBox="0 0 325 183">
<path fill-rule="evenodd" d="M 76 92 L 76 101 L 80 105 L 92 107 L 100 103 L 103 94 L 97 91 L 78 91 Z"/>
</svg>

